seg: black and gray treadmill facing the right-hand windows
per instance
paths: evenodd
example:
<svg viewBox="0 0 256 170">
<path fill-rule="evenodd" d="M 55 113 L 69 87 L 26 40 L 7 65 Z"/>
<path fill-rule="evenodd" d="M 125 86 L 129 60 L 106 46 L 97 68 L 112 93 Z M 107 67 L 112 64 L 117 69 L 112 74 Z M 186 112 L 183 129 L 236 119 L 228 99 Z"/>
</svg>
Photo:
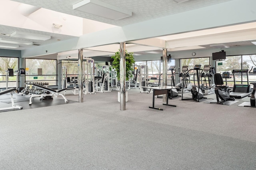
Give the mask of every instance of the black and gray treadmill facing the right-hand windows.
<svg viewBox="0 0 256 170">
<path fill-rule="evenodd" d="M 248 69 L 234 69 L 232 73 L 234 77 L 234 87 L 233 91 L 230 92 L 230 97 L 241 99 L 250 95 L 252 93 L 252 89 L 251 85 L 249 84 Z M 236 75 L 241 75 L 241 77 L 246 75 L 247 84 L 236 84 Z"/>
</svg>

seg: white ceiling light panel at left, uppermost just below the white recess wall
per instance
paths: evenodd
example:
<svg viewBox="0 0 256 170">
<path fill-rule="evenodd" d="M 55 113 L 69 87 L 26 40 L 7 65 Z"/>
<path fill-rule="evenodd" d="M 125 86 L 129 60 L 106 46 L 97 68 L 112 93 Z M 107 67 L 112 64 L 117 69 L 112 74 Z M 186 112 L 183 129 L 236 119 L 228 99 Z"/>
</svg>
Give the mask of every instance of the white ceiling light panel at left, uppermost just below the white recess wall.
<svg viewBox="0 0 256 170">
<path fill-rule="evenodd" d="M 27 32 L 18 32 L 18 31 L 13 32 L 10 36 L 15 38 L 25 38 L 25 39 L 42 40 L 42 41 L 51 39 L 51 36 L 44 36 L 40 34 L 32 34 Z"/>
</svg>

